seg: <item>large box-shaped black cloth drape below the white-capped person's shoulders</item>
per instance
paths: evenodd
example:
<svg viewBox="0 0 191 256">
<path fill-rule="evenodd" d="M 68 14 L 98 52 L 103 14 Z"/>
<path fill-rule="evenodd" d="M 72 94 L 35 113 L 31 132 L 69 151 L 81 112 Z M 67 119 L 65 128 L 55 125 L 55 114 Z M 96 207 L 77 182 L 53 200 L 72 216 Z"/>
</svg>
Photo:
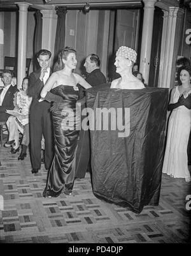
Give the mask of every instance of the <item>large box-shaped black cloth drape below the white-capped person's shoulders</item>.
<svg viewBox="0 0 191 256">
<path fill-rule="evenodd" d="M 116 116 L 118 122 L 127 124 L 124 135 L 112 130 L 115 119 L 112 123 L 108 119 L 108 130 L 90 128 L 96 197 L 130 207 L 136 213 L 148 204 L 159 204 L 167 101 L 168 89 L 164 88 L 122 90 L 104 84 L 87 90 L 87 107 L 94 113 L 99 108 L 113 108 L 116 113 L 122 109 L 122 115 Z M 106 119 L 94 115 L 94 126 L 103 126 Z"/>
</svg>

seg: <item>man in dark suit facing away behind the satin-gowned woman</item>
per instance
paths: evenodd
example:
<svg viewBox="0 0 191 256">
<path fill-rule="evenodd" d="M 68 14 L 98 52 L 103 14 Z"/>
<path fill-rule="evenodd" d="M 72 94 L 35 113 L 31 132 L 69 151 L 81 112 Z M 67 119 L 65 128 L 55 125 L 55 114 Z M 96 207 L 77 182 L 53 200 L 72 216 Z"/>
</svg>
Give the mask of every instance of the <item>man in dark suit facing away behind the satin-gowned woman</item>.
<svg viewBox="0 0 191 256">
<path fill-rule="evenodd" d="M 105 84 L 106 77 L 101 72 L 99 66 L 101 61 L 96 54 L 89 54 L 85 59 L 85 69 L 88 73 L 86 77 L 86 81 L 92 86 L 99 86 L 100 84 Z M 84 90 L 81 89 L 80 86 L 80 98 L 85 96 Z M 86 107 L 85 105 L 85 97 L 80 101 L 81 103 L 81 111 Z M 86 116 L 81 116 L 81 123 Z M 87 169 L 90 171 L 90 134 L 89 131 L 80 130 L 79 134 L 79 143 L 76 152 L 76 178 L 85 177 L 85 172 Z"/>
</svg>

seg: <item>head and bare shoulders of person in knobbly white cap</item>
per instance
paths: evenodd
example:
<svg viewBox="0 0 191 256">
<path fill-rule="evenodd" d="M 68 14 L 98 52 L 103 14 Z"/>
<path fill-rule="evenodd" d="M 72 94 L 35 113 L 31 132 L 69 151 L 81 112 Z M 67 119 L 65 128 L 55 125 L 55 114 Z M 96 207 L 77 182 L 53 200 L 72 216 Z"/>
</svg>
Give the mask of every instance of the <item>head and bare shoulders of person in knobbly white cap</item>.
<svg viewBox="0 0 191 256">
<path fill-rule="evenodd" d="M 111 82 L 110 88 L 116 89 L 143 89 L 143 82 L 132 75 L 132 66 L 136 62 L 137 53 L 135 50 L 121 46 L 116 53 L 115 66 L 120 78 Z"/>
</svg>

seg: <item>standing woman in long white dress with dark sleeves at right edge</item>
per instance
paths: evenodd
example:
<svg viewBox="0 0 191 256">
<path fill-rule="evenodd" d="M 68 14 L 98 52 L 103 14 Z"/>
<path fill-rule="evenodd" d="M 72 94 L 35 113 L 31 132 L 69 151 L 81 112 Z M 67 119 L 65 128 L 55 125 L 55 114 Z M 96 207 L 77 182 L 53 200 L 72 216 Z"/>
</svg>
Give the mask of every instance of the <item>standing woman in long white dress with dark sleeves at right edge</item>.
<svg viewBox="0 0 191 256">
<path fill-rule="evenodd" d="M 187 145 L 191 128 L 191 66 L 181 67 L 178 77 L 181 85 L 173 88 L 169 102 L 168 110 L 172 110 L 172 113 L 162 172 L 171 177 L 185 178 L 190 183 Z"/>
</svg>

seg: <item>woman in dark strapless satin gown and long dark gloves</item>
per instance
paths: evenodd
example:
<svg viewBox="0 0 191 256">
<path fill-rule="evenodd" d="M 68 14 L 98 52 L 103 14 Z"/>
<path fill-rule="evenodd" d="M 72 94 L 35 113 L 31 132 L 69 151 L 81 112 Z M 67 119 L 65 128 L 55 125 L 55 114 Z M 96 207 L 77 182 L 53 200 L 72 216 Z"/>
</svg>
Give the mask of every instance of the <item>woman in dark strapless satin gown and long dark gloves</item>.
<svg viewBox="0 0 191 256">
<path fill-rule="evenodd" d="M 52 112 L 55 156 L 48 172 L 44 197 L 57 197 L 60 193 L 70 195 L 73 189 L 81 119 L 76 110 L 79 96 L 76 85 L 81 84 L 85 89 L 91 87 L 80 75 L 73 73 L 76 63 L 76 51 L 65 47 L 58 57 L 58 71 L 52 73 L 41 91 L 42 98 L 57 102 L 57 108 Z"/>
</svg>

